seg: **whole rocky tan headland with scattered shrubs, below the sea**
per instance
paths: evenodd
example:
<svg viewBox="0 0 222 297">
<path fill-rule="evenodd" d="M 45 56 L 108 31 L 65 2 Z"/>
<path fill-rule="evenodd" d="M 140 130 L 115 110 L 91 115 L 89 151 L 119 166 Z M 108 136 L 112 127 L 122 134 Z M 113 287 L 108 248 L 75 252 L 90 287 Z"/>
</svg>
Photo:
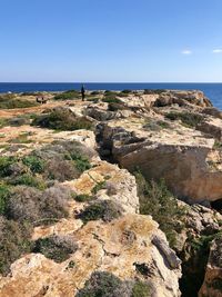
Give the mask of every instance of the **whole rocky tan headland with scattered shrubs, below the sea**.
<svg viewBox="0 0 222 297">
<path fill-rule="evenodd" d="M 222 112 L 201 91 L 0 96 L 0 297 L 222 296 Z"/>
</svg>

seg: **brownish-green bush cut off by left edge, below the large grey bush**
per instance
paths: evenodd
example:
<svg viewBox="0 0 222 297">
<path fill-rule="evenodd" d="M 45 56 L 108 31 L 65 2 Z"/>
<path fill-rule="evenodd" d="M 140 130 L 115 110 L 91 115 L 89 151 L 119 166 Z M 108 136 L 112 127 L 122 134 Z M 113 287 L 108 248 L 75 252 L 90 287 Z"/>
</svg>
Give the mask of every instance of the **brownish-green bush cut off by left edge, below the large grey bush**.
<svg viewBox="0 0 222 297">
<path fill-rule="evenodd" d="M 6 276 L 10 265 L 22 254 L 31 250 L 31 227 L 26 222 L 17 222 L 0 217 L 0 274 Z"/>
</svg>

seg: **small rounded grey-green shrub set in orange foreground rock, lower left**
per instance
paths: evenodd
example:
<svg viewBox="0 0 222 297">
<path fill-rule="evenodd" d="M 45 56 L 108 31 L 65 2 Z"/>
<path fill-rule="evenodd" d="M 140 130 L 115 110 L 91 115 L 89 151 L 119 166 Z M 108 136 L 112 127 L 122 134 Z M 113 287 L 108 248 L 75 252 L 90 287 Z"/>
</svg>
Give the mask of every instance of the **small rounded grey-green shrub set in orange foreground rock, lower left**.
<svg viewBox="0 0 222 297">
<path fill-rule="evenodd" d="M 62 263 L 74 254 L 78 245 L 69 236 L 50 236 L 36 241 L 33 253 L 41 253 L 56 263 Z"/>
</svg>

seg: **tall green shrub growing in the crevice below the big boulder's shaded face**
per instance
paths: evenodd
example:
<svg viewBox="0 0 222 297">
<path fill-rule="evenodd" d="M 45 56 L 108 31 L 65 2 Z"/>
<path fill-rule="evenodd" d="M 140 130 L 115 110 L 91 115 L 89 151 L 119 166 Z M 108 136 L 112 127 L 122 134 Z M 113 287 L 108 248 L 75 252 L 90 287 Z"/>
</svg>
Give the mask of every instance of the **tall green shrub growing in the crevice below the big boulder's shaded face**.
<svg viewBox="0 0 222 297">
<path fill-rule="evenodd" d="M 165 232 L 170 246 L 175 244 L 175 232 L 180 232 L 185 209 L 178 206 L 176 198 L 168 190 L 165 182 L 147 181 L 140 171 L 135 172 L 140 212 L 151 215 Z"/>
</svg>

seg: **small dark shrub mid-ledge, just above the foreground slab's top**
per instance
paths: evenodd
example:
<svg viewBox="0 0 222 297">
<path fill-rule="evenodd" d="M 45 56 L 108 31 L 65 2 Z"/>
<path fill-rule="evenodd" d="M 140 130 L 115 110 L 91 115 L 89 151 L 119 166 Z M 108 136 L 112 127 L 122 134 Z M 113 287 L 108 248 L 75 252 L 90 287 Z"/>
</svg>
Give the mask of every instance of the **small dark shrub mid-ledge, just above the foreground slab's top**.
<svg viewBox="0 0 222 297">
<path fill-rule="evenodd" d="M 122 207 L 111 200 L 100 200 L 91 202 L 78 216 L 87 224 L 90 220 L 102 219 L 103 221 L 111 221 L 122 215 Z"/>
</svg>

